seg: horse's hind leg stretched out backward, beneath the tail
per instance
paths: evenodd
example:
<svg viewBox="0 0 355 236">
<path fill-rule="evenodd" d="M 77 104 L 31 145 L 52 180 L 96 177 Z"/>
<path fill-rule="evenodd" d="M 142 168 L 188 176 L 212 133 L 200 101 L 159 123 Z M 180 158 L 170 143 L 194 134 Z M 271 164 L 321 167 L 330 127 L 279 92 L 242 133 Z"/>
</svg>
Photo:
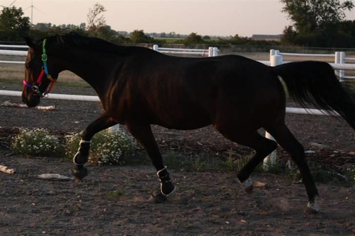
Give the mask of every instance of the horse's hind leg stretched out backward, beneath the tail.
<svg viewBox="0 0 355 236">
<path fill-rule="evenodd" d="M 316 205 L 318 191 L 313 182 L 303 146 L 296 140 L 284 123 L 277 127 L 266 128 L 266 130 L 276 139 L 277 143 L 289 153 L 292 160 L 296 163 L 308 195 L 307 211 L 311 213 L 318 212 L 319 207 Z"/>
</svg>

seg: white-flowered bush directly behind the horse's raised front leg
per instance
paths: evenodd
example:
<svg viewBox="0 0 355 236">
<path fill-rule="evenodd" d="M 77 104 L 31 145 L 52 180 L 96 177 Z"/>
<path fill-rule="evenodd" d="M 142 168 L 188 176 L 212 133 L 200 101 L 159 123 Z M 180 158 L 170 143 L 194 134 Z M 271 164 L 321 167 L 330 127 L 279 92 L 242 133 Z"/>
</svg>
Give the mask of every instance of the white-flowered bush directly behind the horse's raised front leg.
<svg viewBox="0 0 355 236">
<path fill-rule="evenodd" d="M 73 158 L 78 150 L 81 136 L 73 133 L 65 136 L 65 154 Z M 103 130 L 91 140 L 89 163 L 95 165 L 125 163 L 125 158 L 131 157 L 136 148 L 136 142 L 128 134 L 117 130 Z"/>
</svg>

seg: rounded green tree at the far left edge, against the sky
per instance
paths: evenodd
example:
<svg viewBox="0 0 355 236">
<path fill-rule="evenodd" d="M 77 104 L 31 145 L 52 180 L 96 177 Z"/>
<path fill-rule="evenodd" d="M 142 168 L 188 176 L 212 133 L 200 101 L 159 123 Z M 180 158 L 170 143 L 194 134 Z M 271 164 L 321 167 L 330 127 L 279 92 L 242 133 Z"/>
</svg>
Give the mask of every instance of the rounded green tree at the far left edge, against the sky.
<svg viewBox="0 0 355 236">
<path fill-rule="evenodd" d="M 23 17 L 22 8 L 5 7 L 0 14 L 0 40 L 22 41 L 30 31 L 30 18 Z"/>
</svg>

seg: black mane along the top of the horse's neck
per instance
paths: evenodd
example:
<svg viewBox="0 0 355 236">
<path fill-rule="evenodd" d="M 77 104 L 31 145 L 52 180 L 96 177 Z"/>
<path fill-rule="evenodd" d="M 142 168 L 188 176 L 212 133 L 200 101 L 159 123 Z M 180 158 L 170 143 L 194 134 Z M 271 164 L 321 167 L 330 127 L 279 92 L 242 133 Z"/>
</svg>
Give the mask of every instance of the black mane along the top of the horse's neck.
<svg viewBox="0 0 355 236">
<path fill-rule="evenodd" d="M 42 42 L 43 39 L 41 39 L 40 42 Z M 75 32 L 70 32 L 67 34 L 59 33 L 55 36 L 46 37 L 46 39 L 46 48 L 48 51 L 51 52 L 58 52 L 60 50 L 66 49 L 90 50 L 115 54 L 129 54 L 130 52 L 132 52 L 132 50 L 135 50 L 135 47 L 119 46 L 100 38 L 82 36 Z"/>
</svg>

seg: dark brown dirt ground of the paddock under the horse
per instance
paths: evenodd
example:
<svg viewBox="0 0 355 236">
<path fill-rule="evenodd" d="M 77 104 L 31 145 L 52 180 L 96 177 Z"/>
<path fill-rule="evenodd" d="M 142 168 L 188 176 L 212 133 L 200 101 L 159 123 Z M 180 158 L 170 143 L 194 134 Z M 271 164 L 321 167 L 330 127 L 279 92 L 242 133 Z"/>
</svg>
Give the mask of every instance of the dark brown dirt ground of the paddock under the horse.
<svg viewBox="0 0 355 236">
<path fill-rule="evenodd" d="M 21 85 L 0 82 L 1 90 Z M 94 95 L 90 88 L 57 86 L 55 93 Z M 19 97 L 0 96 L 18 102 Z M 158 187 L 152 165 L 88 166 L 84 182 L 43 181 L 37 176 L 70 176 L 62 158 L 24 157 L 9 148 L 16 127 L 45 127 L 62 137 L 79 132 L 99 116 L 99 103 L 42 100 L 54 111 L 0 107 L 0 164 L 17 173 L 0 173 L 1 235 L 354 235 L 355 187 L 316 183 L 318 215 L 307 216 L 304 185 L 283 175 L 256 173 L 266 187 L 247 195 L 235 173 L 220 169 L 193 172 L 170 168 L 177 190 L 164 204 L 147 202 Z M 291 104 L 292 106 L 294 104 Z M 289 106 L 291 106 L 289 105 Z M 355 163 L 355 132 L 332 117 L 288 114 L 287 125 L 306 150 L 309 162 L 336 173 Z M 252 150 L 224 139 L 212 127 L 191 131 L 153 127 L 162 153 L 179 158 L 226 159 Z M 287 155 L 277 149 L 279 162 Z M 116 192 L 115 192 L 116 191 Z"/>
</svg>

